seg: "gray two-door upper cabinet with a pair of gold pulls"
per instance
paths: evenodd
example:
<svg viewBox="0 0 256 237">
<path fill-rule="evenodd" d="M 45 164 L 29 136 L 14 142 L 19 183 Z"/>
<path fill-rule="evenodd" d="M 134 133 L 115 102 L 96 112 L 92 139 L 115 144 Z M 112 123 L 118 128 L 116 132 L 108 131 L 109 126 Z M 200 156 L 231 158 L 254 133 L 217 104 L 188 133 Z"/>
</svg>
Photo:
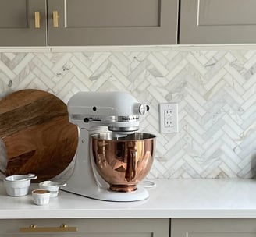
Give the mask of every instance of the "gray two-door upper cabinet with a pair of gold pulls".
<svg viewBox="0 0 256 237">
<path fill-rule="evenodd" d="M 1 46 L 176 44 L 179 0 L 1 0 Z"/>
</svg>

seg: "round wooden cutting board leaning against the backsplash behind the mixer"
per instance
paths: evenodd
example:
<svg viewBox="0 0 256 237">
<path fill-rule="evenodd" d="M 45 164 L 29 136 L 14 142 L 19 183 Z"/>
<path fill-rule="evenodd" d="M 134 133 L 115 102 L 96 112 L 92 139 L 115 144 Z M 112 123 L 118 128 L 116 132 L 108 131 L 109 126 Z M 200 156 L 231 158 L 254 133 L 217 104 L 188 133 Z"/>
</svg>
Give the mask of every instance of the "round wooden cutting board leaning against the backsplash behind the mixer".
<svg viewBox="0 0 256 237">
<path fill-rule="evenodd" d="M 7 154 L 7 161 L 0 160 L 5 168 L 1 172 L 33 173 L 34 182 L 41 182 L 59 175 L 73 160 L 78 132 L 58 97 L 42 90 L 19 90 L 0 101 L 0 138 Z"/>
</svg>

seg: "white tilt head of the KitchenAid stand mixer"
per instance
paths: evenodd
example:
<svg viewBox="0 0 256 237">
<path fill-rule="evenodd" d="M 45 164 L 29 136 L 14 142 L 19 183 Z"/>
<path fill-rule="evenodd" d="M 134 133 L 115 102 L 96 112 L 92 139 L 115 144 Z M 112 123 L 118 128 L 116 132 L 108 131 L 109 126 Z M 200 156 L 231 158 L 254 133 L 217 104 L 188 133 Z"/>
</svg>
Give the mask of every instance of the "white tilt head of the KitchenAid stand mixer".
<svg viewBox="0 0 256 237">
<path fill-rule="evenodd" d="M 108 126 L 113 136 L 126 136 L 139 129 L 139 115 L 149 110 L 123 92 L 79 92 L 68 103 L 69 121 L 80 128 Z"/>
</svg>

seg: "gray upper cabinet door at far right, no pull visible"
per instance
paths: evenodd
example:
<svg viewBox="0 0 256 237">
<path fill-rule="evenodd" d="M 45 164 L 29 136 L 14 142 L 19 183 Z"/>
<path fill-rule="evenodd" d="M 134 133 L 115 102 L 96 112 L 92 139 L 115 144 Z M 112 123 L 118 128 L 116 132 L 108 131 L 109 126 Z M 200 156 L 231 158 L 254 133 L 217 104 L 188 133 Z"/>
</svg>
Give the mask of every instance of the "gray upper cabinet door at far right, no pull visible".
<svg viewBox="0 0 256 237">
<path fill-rule="evenodd" d="M 255 0 L 181 0 L 180 44 L 256 43 Z"/>
</svg>

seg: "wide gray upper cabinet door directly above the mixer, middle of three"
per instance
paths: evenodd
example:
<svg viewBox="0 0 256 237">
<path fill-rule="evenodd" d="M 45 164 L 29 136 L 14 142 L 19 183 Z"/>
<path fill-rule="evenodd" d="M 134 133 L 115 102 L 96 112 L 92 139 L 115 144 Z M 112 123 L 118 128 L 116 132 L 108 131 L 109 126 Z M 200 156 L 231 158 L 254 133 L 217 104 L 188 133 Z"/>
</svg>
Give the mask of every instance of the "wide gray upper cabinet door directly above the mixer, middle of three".
<svg viewBox="0 0 256 237">
<path fill-rule="evenodd" d="M 52 13 L 59 15 L 53 27 Z M 48 44 L 176 44 L 178 0 L 48 1 Z"/>
</svg>

